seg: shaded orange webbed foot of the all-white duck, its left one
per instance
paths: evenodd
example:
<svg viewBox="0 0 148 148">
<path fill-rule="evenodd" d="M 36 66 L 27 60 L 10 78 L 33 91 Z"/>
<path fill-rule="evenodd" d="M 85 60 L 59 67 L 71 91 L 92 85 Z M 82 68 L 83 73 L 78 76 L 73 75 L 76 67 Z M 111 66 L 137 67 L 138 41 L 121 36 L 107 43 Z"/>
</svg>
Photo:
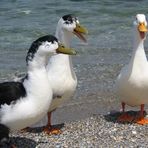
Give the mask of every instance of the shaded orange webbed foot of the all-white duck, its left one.
<svg viewBox="0 0 148 148">
<path fill-rule="evenodd" d="M 118 122 L 132 122 L 134 120 L 134 117 L 129 115 L 128 113 L 122 113 L 121 116 L 118 117 Z"/>
</svg>

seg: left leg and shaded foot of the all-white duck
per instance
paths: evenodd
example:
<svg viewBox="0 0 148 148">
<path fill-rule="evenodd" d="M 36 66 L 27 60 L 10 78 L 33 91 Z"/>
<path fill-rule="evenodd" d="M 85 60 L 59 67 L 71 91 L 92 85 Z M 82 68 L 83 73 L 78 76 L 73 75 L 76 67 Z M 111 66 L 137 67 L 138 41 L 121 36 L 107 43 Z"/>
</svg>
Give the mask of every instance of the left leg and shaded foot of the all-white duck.
<svg viewBox="0 0 148 148">
<path fill-rule="evenodd" d="M 122 114 L 118 117 L 119 122 L 132 122 L 134 117 L 125 112 L 125 103 L 122 102 Z"/>
</svg>

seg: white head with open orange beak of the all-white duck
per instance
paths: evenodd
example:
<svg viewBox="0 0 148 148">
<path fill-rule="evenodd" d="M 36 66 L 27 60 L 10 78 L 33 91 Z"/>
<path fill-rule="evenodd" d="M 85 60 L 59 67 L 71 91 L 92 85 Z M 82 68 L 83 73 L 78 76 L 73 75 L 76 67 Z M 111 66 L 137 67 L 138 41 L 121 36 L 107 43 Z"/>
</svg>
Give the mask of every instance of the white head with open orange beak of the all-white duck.
<svg viewBox="0 0 148 148">
<path fill-rule="evenodd" d="M 134 21 L 134 25 L 136 26 L 136 30 L 139 34 L 141 40 L 144 40 L 146 37 L 147 29 L 147 21 L 144 14 L 137 14 L 136 20 Z"/>
</svg>

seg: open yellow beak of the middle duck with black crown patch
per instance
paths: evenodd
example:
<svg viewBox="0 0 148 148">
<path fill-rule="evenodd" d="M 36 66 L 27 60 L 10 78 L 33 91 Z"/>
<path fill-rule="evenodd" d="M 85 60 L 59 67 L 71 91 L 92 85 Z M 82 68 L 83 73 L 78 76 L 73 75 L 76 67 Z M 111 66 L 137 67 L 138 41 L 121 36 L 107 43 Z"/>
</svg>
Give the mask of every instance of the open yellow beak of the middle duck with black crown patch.
<svg viewBox="0 0 148 148">
<path fill-rule="evenodd" d="M 87 42 L 86 38 L 83 36 L 83 34 L 88 34 L 88 30 L 85 27 L 77 23 L 73 33 L 82 41 Z"/>
</svg>

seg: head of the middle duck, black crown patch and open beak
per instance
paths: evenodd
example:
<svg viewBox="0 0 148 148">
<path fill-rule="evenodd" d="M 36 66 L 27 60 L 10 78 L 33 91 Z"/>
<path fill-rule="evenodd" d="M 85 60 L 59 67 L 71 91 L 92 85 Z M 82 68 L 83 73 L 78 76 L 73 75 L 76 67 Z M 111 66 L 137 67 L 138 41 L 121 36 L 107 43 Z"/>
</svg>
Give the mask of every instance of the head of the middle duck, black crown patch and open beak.
<svg viewBox="0 0 148 148">
<path fill-rule="evenodd" d="M 75 34 L 79 39 L 86 42 L 84 34 L 87 34 L 88 31 L 85 27 L 80 25 L 78 18 L 68 14 L 64 15 L 58 22 L 58 27 L 66 31 L 67 33 L 73 35 Z"/>
</svg>

